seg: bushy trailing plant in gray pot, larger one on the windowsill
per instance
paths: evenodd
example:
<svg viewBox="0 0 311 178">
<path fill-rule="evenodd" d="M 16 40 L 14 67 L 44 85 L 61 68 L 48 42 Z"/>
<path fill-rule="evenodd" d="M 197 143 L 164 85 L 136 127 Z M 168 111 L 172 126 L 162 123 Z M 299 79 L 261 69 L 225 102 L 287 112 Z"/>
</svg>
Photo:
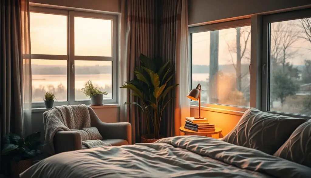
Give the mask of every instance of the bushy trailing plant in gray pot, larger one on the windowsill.
<svg viewBox="0 0 311 178">
<path fill-rule="evenodd" d="M 85 88 L 81 89 L 81 92 L 91 98 L 91 105 L 102 105 L 103 95 L 108 95 L 106 91 L 102 92 L 98 87 L 94 87 L 91 80 L 86 82 Z"/>
</svg>

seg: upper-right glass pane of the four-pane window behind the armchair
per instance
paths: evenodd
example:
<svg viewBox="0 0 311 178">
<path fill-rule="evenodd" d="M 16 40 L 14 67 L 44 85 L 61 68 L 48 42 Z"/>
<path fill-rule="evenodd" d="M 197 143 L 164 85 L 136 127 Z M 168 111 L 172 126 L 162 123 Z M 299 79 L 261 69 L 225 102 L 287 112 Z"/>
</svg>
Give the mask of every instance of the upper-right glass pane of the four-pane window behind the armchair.
<svg viewBox="0 0 311 178">
<path fill-rule="evenodd" d="M 75 17 L 75 55 L 112 56 L 112 21 Z"/>
</svg>

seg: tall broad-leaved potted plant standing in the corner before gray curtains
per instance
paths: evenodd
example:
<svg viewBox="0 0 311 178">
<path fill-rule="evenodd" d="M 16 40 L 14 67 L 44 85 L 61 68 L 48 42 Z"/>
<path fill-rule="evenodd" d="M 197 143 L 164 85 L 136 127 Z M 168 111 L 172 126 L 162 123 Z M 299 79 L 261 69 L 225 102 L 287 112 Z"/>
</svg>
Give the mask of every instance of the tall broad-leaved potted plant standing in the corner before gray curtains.
<svg viewBox="0 0 311 178">
<path fill-rule="evenodd" d="M 142 135 L 141 142 L 155 142 L 160 136 L 162 112 L 174 97 L 166 97 L 170 90 L 179 84 L 169 84 L 174 76 L 174 65 L 164 63 L 161 58 L 150 59 L 141 54 L 140 67 L 134 70 L 137 80 L 125 82 L 120 88 L 131 89 L 139 103 L 133 104 L 142 110 L 147 125 L 147 135 Z M 152 124 L 150 124 L 152 123 Z M 153 128 L 150 128 L 153 127 Z M 153 131 L 151 133 L 151 130 Z"/>
</svg>

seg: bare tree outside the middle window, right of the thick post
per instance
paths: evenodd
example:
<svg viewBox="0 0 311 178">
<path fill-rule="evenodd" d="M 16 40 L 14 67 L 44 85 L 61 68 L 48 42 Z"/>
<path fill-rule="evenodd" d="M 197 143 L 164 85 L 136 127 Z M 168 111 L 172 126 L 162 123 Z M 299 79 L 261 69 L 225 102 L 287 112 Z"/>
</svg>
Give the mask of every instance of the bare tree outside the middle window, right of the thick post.
<svg viewBox="0 0 311 178">
<path fill-rule="evenodd" d="M 247 45 L 250 39 L 251 29 L 248 27 L 243 29 L 241 29 L 241 27 L 237 27 L 235 28 L 235 30 L 236 30 L 236 45 L 232 46 L 227 42 L 227 46 L 231 56 L 231 62 L 236 73 L 236 88 L 239 91 L 242 91 L 243 90 L 242 79 L 248 74 L 248 72 L 242 74 L 241 62 L 243 58 L 250 60 L 250 58 L 246 56 L 246 54 L 248 51 Z M 234 63 L 232 53 L 236 53 L 236 64 Z"/>
</svg>

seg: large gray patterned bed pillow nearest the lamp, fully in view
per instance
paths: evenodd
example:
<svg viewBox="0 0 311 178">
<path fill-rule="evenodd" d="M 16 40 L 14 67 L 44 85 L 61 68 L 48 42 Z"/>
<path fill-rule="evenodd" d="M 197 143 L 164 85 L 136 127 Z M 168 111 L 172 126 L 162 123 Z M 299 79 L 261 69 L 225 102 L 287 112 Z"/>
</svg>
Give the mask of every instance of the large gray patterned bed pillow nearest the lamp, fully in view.
<svg viewBox="0 0 311 178">
<path fill-rule="evenodd" d="M 250 108 L 223 141 L 272 155 L 306 119 L 265 113 Z"/>
</svg>

